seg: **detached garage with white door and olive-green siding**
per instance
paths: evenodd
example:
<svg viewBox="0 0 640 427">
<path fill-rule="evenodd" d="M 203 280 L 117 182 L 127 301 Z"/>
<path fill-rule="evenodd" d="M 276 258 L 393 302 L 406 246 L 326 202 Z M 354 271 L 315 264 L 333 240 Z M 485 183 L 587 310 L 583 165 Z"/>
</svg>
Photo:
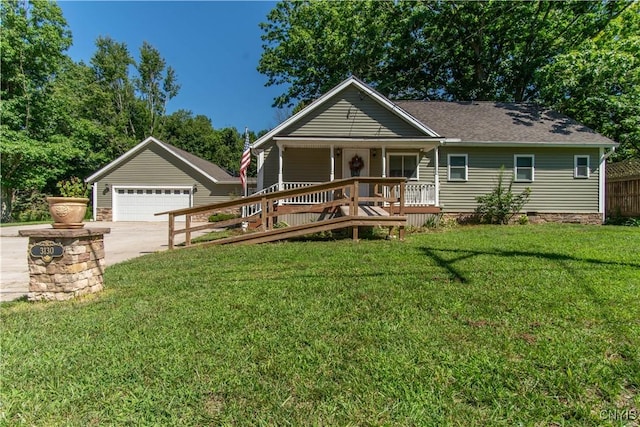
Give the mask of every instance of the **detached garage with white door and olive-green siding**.
<svg viewBox="0 0 640 427">
<path fill-rule="evenodd" d="M 242 194 L 239 178 L 153 137 L 85 181 L 92 185 L 96 221 L 166 221 L 155 214 Z"/>
</svg>

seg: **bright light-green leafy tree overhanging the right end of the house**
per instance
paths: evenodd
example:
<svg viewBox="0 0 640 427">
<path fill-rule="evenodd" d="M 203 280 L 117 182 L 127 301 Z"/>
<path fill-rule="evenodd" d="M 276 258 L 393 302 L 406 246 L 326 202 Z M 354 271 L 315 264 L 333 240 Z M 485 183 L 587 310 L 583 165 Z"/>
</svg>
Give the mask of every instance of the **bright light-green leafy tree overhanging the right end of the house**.
<svg viewBox="0 0 640 427">
<path fill-rule="evenodd" d="M 640 157 L 640 3 L 539 70 L 541 102 Z"/>
</svg>

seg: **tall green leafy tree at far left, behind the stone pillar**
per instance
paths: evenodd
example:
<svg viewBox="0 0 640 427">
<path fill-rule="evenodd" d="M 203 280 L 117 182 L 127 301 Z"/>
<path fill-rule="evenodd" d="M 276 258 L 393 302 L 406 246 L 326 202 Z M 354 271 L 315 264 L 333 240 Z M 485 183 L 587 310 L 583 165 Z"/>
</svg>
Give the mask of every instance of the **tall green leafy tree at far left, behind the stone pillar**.
<svg viewBox="0 0 640 427">
<path fill-rule="evenodd" d="M 2 1 L 0 16 L 2 220 L 7 220 L 18 189 L 41 188 L 75 155 L 67 138 L 51 132 L 58 118 L 52 81 L 71 33 L 55 3 Z"/>
</svg>

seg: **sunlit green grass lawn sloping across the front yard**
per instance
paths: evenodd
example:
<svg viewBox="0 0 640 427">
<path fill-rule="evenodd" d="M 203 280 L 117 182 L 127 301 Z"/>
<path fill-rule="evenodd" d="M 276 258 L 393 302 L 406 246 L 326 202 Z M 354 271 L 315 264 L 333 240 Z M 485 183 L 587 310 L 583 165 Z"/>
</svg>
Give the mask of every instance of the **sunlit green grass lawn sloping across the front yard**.
<svg viewBox="0 0 640 427">
<path fill-rule="evenodd" d="M 546 225 L 141 257 L 1 305 L 0 423 L 637 426 L 639 254 Z"/>
</svg>

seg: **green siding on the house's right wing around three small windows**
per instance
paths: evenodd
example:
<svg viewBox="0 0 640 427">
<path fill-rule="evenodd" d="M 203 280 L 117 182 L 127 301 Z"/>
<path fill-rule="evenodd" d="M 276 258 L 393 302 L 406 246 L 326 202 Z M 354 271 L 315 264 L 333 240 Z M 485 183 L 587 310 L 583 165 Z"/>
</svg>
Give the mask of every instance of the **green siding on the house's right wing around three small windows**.
<svg viewBox="0 0 640 427">
<path fill-rule="evenodd" d="M 468 155 L 468 180 L 447 180 L 448 154 Z M 534 155 L 534 181 L 514 183 L 512 190 L 531 188 L 525 211 L 598 212 L 599 165 L 598 149 L 564 148 L 448 148 L 440 149 L 440 206 L 445 212 L 470 212 L 476 197 L 489 193 L 497 183 L 500 167 L 504 166 L 507 185 L 513 177 L 514 155 Z M 588 155 L 590 177 L 573 177 L 574 156 Z"/>
</svg>

